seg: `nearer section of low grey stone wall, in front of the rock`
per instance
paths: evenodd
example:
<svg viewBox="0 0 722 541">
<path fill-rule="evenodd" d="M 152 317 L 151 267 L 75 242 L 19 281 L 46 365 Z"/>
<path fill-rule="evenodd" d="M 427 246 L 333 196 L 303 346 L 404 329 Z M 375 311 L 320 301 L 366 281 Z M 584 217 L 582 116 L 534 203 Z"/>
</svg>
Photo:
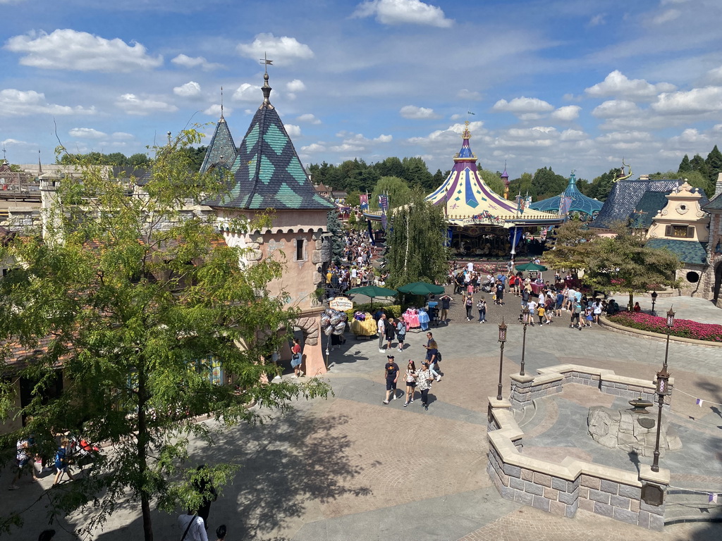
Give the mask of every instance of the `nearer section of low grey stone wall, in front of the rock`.
<svg viewBox="0 0 722 541">
<path fill-rule="evenodd" d="M 669 470 L 640 465 L 640 472 L 627 472 L 570 457 L 560 463 L 526 457 L 511 404 L 495 397 L 489 398 L 487 428 L 487 473 L 503 498 L 567 517 L 585 509 L 646 529 L 664 528 L 664 503 L 645 503 L 642 491 L 652 485 L 664 498 Z"/>
</svg>

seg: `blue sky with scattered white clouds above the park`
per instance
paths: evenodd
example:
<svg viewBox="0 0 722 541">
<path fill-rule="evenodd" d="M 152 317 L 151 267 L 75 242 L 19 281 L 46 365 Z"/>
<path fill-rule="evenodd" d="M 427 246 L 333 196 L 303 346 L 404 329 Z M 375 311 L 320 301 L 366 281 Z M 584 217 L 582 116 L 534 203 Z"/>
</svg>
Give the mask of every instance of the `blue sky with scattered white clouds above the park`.
<svg viewBox="0 0 722 541">
<path fill-rule="evenodd" d="M 0 20 L 12 163 L 52 162 L 56 130 L 70 151 L 143 152 L 215 122 L 221 87 L 238 144 L 264 51 L 304 164 L 447 170 L 465 120 L 511 178 L 676 170 L 722 143 L 719 0 L 0 0 Z"/>
</svg>

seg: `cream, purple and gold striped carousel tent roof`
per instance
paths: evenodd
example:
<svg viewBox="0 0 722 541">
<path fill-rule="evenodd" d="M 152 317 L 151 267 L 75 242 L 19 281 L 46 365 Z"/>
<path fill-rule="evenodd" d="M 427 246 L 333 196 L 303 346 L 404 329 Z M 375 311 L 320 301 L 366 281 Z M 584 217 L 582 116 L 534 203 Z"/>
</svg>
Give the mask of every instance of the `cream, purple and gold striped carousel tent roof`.
<svg viewBox="0 0 722 541">
<path fill-rule="evenodd" d="M 564 219 L 554 214 L 520 208 L 495 193 L 477 172 L 477 156 L 469 147 L 469 123 L 461 134 L 461 150 L 453 158 L 454 167 L 446 180 L 426 200 L 445 206 L 452 225 L 496 225 L 505 228 L 523 225 L 561 224 Z"/>
</svg>

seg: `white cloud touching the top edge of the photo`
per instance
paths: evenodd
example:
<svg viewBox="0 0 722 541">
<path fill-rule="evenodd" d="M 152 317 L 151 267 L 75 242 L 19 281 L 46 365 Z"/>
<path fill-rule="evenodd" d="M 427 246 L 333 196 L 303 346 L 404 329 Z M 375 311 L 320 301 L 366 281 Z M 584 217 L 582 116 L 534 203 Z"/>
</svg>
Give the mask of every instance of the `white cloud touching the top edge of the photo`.
<svg viewBox="0 0 722 541">
<path fill-rule="evenodd" d="M 376 17 L 382 25 L 429 25 L 448 28 L 447 19 L 438 6 L 420 0 L 367 0 L 356 6 L 352 17 Z"/>
</svg>

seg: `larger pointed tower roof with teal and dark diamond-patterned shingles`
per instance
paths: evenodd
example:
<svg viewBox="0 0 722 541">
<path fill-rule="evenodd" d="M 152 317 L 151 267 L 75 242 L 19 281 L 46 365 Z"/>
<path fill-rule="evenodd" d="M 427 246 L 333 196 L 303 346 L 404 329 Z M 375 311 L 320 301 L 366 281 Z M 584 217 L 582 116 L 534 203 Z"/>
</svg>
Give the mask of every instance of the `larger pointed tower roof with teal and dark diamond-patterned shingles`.
<svg viewBox="0 0 722 541">
<path fill-rule="evenodd" d="M 270 93 L 270 88 L 267 88 Z M 276 109 L 268 98 L 256 111 L 231 167 L 230 193 L 206 205 L 248 210 L 336 208 L 316 193 Z"/>
</svg>

